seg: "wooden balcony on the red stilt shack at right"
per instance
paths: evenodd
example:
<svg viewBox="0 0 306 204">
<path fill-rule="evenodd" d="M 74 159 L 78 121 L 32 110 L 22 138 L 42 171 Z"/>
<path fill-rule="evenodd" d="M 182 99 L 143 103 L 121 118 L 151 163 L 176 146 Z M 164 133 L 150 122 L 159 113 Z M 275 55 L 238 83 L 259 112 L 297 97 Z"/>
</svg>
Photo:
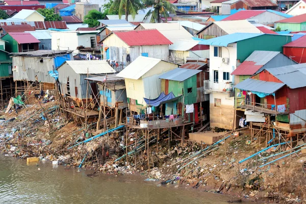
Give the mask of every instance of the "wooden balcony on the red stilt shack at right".
<svg viewBox="0 0 306 204">
<path fill-rule="evenodd" d="M 285 112 L 278 112 L 276 111 L 277 106 L 275 107 L 274 105 L 271 104 L 258 104 L 258 103 L 253 103 L 250 101 L 247 101 L 247 104 L 244 103 L 238 103 L 237 108 L 240 109 L 245 109 L 245 110 L 252 110 L 253 112 L 260 112 L 260 113 L 267 113 L 267 114 L 276 114 L 276 115 L 284 115 L 284 114 L 289 114 L 287 110 L 287 104 L 286 104 L 286 110 Z M 273 110 L 268 107 L 274 107 Z"/>
</svg>

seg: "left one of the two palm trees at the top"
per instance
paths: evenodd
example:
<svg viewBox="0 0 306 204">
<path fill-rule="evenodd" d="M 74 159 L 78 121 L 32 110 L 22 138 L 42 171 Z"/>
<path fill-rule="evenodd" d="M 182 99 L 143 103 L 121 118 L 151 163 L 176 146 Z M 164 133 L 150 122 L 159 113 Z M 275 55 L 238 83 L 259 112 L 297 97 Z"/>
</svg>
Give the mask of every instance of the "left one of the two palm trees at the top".
<svg viewBox="0 0 306 204">
<path fill-rule="evenodd" d="M 135 18 L 135 15 L 137 14 L 137 11 L 139 9 L 143 9 L 144 6 L 142 5 L 140 0 L 114 0 L 110 7 L 110 12 L 112 12 L 115 9 L 119 10 L 119 19 L 121 19 L 121 16 L 125 14 L 125 20 L 127 20 L 127 17 L 129 14 L 132 14 L 133 19 Z"/>
</svg>

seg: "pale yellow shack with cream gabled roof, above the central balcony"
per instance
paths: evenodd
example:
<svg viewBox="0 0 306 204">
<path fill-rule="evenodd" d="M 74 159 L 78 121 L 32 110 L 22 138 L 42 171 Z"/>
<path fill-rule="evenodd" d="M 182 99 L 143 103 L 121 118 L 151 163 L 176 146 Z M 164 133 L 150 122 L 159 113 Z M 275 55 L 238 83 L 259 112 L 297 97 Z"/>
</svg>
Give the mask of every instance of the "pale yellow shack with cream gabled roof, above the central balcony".
<svg viewBox="0 0 306 204">
<path fill-rule="evenodd" d="M 160 75 L 177 67 L 161 59 L 140 56 L 119 72 L 117 77 L 124 78 L 129 109 L 144 114 L 144 98 L 154 99 L 162 93 Z"/>
</svg>

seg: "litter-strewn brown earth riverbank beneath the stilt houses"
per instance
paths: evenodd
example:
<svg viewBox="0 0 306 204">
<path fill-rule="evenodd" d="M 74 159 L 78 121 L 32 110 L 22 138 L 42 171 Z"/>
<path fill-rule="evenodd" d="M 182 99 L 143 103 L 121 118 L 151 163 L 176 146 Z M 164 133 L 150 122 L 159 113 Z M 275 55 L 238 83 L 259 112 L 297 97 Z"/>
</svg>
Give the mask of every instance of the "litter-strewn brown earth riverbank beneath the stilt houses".
<svg viewBox="0 0 306 204">
<path fill-rule="evenodd" d="M 44 118 L 38 104 L 28 109 L 23 108 L 18 113 L 13 111 L 1 116 L 4 119 L 0 120 L 2 154 L 23 159 L 39 157 L 42 161 L 54 161 L 67 168 L 82 166 L 94 172 L 114 175 L 142 174 L 149 181 L 163 185 L 186 185 L 201 191 L 230 194 L 243 199 L 299 202 L 304 197 L 306 155 L 298 152 L 259 168 L 273 160 L 260 160 L 275 150 L 271 148 L 240 164 L 239 161 L 265 148 L 265 144 L 250 141 L 248 130 L 240 131 L 236 136 L 226 134 L 224 138 L 227 139 L 211 147 L 192 141 L 184 144 L 175 140 L 168 141 L 165 133 L 158 143 L 152 142 L 149 148 L 136 149 L 136 154 L 134 152 L 126 157 L 122 129 L 68 149 L 103 131 L 89 129 L 85 133 L 85 129 L 82 129 L 84 125 L 76 126 L 74 122 L 66 121 L 56 101 L 42 104 L 42 107 L 48 119 Z M 110 125 L 109 129 L 112 127 Z M 155 132 L 150 133 L 152 138 L 155 135 Z M 127 151 L 135 150 L 135 142 L 136 146 L 138 142 L 141 144 L 141 136 L 140 131 L 129 134 Z M 286 150 L 287 146 L 281 148 Z M 195 152 L 199 154 L 192 157 Z M 124 157 L 116 161 L 121 156 Z M 202 157 L 194 160 L 198 156 Z"/>
</svg>

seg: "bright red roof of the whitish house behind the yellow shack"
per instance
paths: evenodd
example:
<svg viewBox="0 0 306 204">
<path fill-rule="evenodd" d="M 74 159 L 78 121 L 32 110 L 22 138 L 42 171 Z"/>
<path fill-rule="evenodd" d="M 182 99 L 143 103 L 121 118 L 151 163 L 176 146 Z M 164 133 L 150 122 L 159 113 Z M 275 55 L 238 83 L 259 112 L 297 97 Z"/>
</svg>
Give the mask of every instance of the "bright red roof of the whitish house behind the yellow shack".
<svg viewBox="0 0 306 204">
<path fill-rule="evenodd" d="M 122 41 L 129 46 L 172 44 L 168 38 L 158 30 L 141 31 L 113 31 Z"/>
</svg>

